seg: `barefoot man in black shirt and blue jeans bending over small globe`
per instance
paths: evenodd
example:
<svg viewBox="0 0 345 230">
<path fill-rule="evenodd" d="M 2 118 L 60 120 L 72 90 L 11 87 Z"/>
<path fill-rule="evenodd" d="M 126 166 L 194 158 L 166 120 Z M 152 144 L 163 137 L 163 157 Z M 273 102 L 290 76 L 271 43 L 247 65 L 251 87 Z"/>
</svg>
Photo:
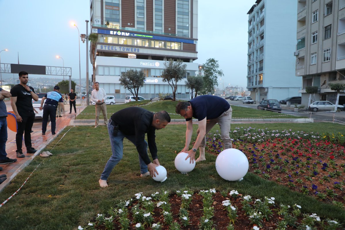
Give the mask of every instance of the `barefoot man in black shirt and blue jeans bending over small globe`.
<svg viewBox="0 0 345 230">
<path fill-rule="evenodd" d="M 148 175 L 153 176 L 159 166 L 156 146 L 156 129 L 162 129 L 170 122 L 170 116 L 166 111 L 152 113 L 139 107 L 129 107 L 114 113 L 108 122 L 108 133 L 111 144 L 112 156 L 108 160 L 101 178 L 99 179 L 100 187 L 107 187 L 107 179 L 111 170 L 122 159 L 123 141 L 127 138 L 136 147 L 139 153 L 140 177 Z M 147 133 L 147 141 L 145 141 Z M 147 154 L 149 147 L 153 163 Z"/>
</svg>

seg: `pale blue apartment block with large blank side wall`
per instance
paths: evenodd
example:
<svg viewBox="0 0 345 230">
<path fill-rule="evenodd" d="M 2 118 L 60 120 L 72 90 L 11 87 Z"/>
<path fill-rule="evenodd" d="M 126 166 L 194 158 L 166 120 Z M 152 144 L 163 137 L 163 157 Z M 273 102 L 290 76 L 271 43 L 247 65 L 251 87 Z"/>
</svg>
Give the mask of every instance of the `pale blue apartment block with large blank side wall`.
<svg viewBox="0 0 345 230">
<path fill-rule="evenodd" d="M 248 11 L 248 75 L 250 96 L 260 101 L 299 96 L 295 76 L 296 15 L 294 1 L 257 0 Z"/>
</svg>

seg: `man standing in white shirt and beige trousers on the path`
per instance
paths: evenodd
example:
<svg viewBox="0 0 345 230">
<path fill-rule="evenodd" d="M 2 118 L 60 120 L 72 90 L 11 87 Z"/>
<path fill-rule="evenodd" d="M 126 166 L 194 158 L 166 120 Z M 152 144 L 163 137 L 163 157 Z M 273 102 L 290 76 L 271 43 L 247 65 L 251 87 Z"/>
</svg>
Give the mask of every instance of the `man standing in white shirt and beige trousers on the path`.
<svg viewBox="0 0 345 230">
<path fill-rule="evenodd" d="M 96 118 L 95 118 L 95 128 L 98 126 L 99 122 L 99 114 L 102 110 L 104 123 L 108 124 L 108 117 L 107 117 L 107 107 L 105 100 L 107 99 L 107 94 L 104 89 L 99 88 L 99 83 L 95 82 L 95 89 L 91 92 L 91 101 L 95 102 L 95 109 L 96 109 Z"/>
</svg>

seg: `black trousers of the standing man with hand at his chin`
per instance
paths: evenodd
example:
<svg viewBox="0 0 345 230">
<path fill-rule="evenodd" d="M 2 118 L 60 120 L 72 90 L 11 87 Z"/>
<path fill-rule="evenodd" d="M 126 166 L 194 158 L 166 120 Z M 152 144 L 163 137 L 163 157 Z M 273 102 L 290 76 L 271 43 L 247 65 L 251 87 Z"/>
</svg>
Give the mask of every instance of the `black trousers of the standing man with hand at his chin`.
<svg viewBox="0 0 345 230">
<path fill-rule="evenodd" d="M 17 122 L 17 134 L 16 134 L 16 144 L 17 151 L 22 150 L 22 139 L 24 134 L 24 143 L 26 148 L 31 148 L 31 128 L 33 125 L 33 120 L 35 119 L 35 113 L 32 111 L 18 112 L 19 116 L 22 118 L 22 122 Z"/>
</svg>

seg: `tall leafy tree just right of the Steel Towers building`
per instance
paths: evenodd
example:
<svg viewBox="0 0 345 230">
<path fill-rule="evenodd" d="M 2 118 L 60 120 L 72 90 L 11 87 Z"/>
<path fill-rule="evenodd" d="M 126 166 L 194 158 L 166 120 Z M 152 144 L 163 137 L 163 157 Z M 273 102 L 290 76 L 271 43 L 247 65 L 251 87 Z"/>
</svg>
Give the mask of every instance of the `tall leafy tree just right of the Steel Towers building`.
<svg viewBox="0 0 345 230">
<path fill-rule="evenodd" d="M 203 64 L 204 71 L 204 90 L 203 94 L 207 92 L 214 92 L 214 88 L 218 86 L 218 77 L 223 77 L 223 70 L 219 69 L 218 61 L 214 58 L 209 58 Z"/>
</svg>

